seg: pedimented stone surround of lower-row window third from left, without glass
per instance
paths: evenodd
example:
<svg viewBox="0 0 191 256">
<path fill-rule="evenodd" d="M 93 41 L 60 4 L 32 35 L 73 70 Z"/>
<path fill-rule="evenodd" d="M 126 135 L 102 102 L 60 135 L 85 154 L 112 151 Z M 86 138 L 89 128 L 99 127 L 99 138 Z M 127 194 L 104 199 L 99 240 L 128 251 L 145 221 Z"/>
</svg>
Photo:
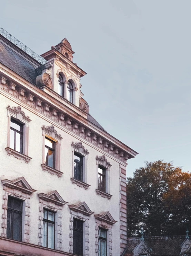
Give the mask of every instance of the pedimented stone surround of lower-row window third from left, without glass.
<svg viewBox="0 0 191 256">
<path fill-rule="evenodd" d="M 73 219 L 78 219 L 83 221 L 83 255 L 89 256 L 89 216 L 93 212 L 89 209 L 85 202 L 81 202 L 77 205 L 68 205 L 70 208 L 70 241 L 69 241 L 69 253 L 73 253 Z"/>
</svg>

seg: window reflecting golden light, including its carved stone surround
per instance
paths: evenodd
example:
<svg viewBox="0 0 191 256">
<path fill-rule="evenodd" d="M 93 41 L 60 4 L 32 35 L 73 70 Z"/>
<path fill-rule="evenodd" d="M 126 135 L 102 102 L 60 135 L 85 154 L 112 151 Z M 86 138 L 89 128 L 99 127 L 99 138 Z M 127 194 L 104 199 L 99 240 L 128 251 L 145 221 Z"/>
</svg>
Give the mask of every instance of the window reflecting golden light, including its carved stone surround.
<svg viewBox="0 0 191 256">
<path fill-rule="evenodd" d="M 54 129 L 54 126 L 42 126 L 43 152 L 42 170 L 50 174 L 57 175 L 59 178 L 63 174 L 60 171 L 60 140 L 61 134 Z"/>
</svg>

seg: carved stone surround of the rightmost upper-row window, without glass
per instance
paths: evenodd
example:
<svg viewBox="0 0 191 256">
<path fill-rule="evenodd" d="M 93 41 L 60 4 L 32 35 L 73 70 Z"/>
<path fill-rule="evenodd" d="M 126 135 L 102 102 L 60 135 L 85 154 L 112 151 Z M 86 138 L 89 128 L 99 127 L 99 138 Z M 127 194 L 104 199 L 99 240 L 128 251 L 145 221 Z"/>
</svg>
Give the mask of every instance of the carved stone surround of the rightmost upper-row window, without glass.
<svg viewBox="0 0 191 256">
<path fill-rule="evenodd" d="M 97 156 L 96 157 L 96 165 L 97 165 L 97 189 L 96 193 L 97 195 L 101 195 L 102 197 L 108 198 L 108 200 L 111 199 L 112 195 L 110 195 L 110 167 L 111 164 L 108 162 L 108 160 L 105 158 L 105 156 Z M 98 179 L 99 179 L 99 166 L 103 167 L 105 169 L 105 192 L 101 191 L 98 188 Z"/>
</svg>

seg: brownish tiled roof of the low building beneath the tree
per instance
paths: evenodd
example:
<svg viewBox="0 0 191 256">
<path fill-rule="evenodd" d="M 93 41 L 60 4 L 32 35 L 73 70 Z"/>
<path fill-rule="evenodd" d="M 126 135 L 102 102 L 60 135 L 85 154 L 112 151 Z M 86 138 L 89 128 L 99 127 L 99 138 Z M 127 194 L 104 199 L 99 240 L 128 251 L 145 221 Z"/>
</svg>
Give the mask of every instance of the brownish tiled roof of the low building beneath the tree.
<svg viewBox="0 0 191 256">
<path fill-rule="evenodd" d="M 145 237 L 145 243 L 150 247 L 151 255 L 154 256 L 178 256 L 180 254 L 180 247 L 185 236 L 159 236 L 159 237 Z M 132 255 L 132 251 L 139 244 L 140 237 L 128 237 L 127 247 L 122 256 Z"/>
</svg>

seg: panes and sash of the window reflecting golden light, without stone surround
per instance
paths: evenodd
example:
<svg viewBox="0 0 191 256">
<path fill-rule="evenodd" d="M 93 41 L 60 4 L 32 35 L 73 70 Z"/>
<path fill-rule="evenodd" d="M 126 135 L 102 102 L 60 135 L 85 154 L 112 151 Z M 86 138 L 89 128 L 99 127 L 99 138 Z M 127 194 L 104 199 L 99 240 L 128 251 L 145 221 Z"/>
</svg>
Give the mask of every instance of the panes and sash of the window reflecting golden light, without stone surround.
<svg viewBox="0 0 191 256">
<path fill-rule="evenodd" d="M 56 143 L 45 137 L 44 164 L 55 169 L 55 147 Z"/>
</svg>

